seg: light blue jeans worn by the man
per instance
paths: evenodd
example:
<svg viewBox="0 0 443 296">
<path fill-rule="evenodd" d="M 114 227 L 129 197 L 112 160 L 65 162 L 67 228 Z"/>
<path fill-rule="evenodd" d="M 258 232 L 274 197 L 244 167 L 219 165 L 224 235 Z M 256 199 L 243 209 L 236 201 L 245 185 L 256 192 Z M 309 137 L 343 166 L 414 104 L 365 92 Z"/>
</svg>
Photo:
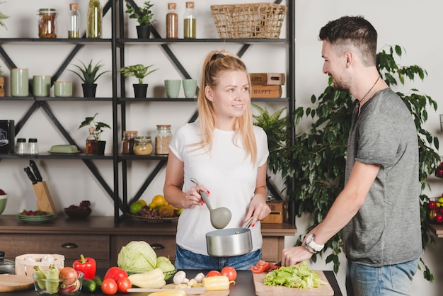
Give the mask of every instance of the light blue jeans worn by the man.
<svg viewBox="0 0 443 296">
<path fill-rule="evenodd" d="M 419 260 L 381 267 L 347 261 L 347 296 L 410 295 Z"/>
</svg>

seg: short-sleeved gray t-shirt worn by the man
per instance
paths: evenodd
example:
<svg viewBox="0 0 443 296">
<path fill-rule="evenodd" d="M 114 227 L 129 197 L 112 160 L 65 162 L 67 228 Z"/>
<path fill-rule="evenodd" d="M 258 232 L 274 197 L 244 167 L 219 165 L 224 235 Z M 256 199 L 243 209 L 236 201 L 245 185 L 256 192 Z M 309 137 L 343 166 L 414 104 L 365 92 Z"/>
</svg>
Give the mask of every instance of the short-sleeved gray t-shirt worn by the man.
<svg viewBox="0 0 443 296">
<path fill-rule="evenodd" d="M 410 111 L 395 92 L 377 92 L 352 115 L 345 182 L 355 161 L 380 171 L 357 215 L 343 229 L 347 259 L 386 266 L 419 258 L 420 183 L 418 133 Z"/>
</svg>

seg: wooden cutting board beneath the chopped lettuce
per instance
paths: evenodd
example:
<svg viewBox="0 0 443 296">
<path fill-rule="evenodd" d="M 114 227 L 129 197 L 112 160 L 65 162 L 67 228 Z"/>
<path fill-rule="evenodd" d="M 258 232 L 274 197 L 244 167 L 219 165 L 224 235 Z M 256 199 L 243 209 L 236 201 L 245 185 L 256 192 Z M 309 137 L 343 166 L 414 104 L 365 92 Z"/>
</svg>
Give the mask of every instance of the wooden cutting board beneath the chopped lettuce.
<svg viewBox="0 0 443 296">
<path fill-rule="evenodd" d="M 320 288 L 311 289 L 297 289 L 287 288 L 284 286 L 268 286 L 263 283 L 266 273 L 253 273 L 255 295 L 257 296 L 333 296 L 334 290 L 328 283 L 323 271 L 316 271 L 320 275 L 321 280 L 325 281 L 326 285 L 321 285 Z"/>
</svg>

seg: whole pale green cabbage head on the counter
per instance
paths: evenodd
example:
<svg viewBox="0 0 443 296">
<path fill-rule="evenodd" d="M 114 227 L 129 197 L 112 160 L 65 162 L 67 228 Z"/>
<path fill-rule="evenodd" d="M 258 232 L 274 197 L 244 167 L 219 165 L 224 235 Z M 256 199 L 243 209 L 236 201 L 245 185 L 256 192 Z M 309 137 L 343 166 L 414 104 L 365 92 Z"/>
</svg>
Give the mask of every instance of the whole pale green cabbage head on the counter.
<svg viewBox="0 0 443 296">
<path fill-rule="evenodd" d="M 130 241 L 122 246 L 117 258 L 118 267 L 127 273 L 146 273 L 156 264 L 157 254 L 146 241 Z"/>
</svg>

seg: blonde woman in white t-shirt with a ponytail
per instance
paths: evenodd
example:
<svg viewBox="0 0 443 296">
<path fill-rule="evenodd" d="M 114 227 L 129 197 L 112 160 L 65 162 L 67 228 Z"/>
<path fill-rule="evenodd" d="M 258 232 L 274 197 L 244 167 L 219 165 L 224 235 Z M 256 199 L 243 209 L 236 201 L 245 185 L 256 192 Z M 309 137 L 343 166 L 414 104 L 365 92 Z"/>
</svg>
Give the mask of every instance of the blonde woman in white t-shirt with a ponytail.
<svg viewBox="0 0 443 296">
<path fill-rule="evenodd" d="M 265 132 L 253 125 L 250 86 L 241 59 L 229 52 L 209 52 L 197 99 L 199 120 L 178 128 L 171 141 L 163 192 L 168 203 L 185 209 L 177 227 L 178 269 L 249 269 L 261 258 L 260 220 L 270 213 L 266 204 L 269 152 Z M 251 253 L 208 256 L 205 234 L 216 229 L 202 190 L 213 208 L 231 210 L 226 228 L 242 227 L 252 217 Z"/>
</svg>

